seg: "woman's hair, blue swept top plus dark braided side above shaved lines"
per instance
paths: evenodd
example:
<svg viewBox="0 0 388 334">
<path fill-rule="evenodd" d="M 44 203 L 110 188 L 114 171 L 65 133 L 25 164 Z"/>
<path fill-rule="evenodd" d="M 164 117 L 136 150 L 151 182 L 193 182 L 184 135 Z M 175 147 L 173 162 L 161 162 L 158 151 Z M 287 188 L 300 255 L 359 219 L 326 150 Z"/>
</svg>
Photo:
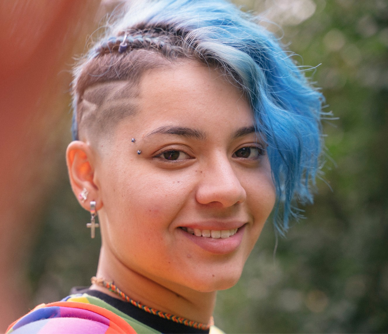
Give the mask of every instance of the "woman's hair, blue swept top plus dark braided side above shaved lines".
<svg viewBox="0 0 388 334">
<path fill-rule="evenodd" d="M 119 52 L 122 42 L 127 49 Z M 298 216 L 296 203 L 313 199 L 322 150 L 321 93 L 308 83 L 277 38 L 233 4 L 223 0 L 142 1 L 107 30 L 74 70 L 74 138 L 78 137 L 85 89 L 104 81 L 131 80 L 140 71 L 136 61 L 144 59 L 132 59 L 133 66 L 128 67 L 126 57 L 139 49 L 152 51 L 147 68 L 157 62 L 152 54 L 172 62 L 182 57 L 195 59 L 222 69 L 243 90 L 257 132 L 268 145 L 277 192 L 274 222 L 283 234 L 289 216 Z"/>
</svg>

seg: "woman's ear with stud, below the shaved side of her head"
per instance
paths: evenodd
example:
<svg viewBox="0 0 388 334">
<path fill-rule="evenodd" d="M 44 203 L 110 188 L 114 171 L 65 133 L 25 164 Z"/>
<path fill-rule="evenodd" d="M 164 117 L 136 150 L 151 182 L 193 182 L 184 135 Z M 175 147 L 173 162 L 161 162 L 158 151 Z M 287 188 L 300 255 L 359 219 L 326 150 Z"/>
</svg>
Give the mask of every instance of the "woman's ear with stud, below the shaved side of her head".
<svg viewBox="0 0 388 334">
<path fill-rule="evenodd" d="M 96 202 L 96 209 L 102 208 L 99 188 L 94 182 L 95 164 L 94 154 L 90 145 L 75 140 L 71 142 L 66 150 L 66 163 L 68 165 L 71 189 L 78 199 L 80 205 L 90 211 L 90 201 Z M 86 189 L 86 192 L 84 191 Z M 82 201 L 81 193 L 87 194 L 87 198 Z"/>
</svg>

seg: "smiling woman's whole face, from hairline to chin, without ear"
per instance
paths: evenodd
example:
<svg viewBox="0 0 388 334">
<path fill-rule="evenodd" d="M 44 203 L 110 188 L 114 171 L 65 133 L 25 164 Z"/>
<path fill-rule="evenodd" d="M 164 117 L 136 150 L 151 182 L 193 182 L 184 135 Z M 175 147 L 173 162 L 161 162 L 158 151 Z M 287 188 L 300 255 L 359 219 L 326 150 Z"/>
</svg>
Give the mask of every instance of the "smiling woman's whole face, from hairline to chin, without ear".
<svg viewBox="0 0 388 334">
<path fill-rule="evenodd" d="M 231 287 L 275 202 L 251 108 L 196 62 L 146 72 L 139 89 L 97 149 L 103 247 L 164 285 Z"/>
</svg>

